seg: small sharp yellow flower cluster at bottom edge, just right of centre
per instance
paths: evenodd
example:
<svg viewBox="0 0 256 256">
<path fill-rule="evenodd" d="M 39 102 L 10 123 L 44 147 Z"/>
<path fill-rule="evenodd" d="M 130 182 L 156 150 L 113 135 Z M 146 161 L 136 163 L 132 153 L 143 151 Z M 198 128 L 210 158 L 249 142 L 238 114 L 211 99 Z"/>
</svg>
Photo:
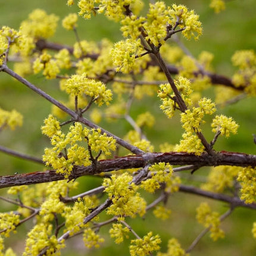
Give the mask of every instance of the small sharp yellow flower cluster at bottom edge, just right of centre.
<svg viewBox="0 0 256 256">
<path fill-rule="evenodd" d="M 159 235 L 153 236 L 152 232 L 149 232 L 146 236 L 141 239 L 134 239 L 131 241 L 129 246 L 131 256 L 146 256 L 151 254 L 153 251 L 160 249 L 159 244 L 161 239 Z"/>
</svg>

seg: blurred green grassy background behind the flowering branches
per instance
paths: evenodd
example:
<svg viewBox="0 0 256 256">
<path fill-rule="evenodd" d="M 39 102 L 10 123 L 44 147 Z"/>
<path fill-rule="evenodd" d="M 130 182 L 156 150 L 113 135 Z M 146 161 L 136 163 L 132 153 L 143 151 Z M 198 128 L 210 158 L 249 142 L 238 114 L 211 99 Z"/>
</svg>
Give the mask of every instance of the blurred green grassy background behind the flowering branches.
<svg viewBox="0 0 256 256">
<path fill-rule="evenodd" d="M 68 13 L 77 11 L 77 7 L 67 7 L 65 4 L 66 1 L 9 0 L 0 2 L 0 27 L 7 25 L 15 29 L 18 29 L 21 21 L 27 18 L 27 15 L 35 8 L 42 8 L 48 14 L 57 14 L 60 20 Z M 144 2 L 146 8 L 148 2 Z M 172 1 L 166 1 L 166 3 L 167 5 L 173 4 Z M 214 14 L 213 10 L 208 7 L 209 3 L 210 1 L 208 0 L 176 1 L 176 4 L 184 4 L 190 9 L 195 10 L 195 12 L 200 15 L 200 20 L 204 27 L 204 34 L 198 42 L 183 40 L 183 43 L 185 43 L 195 56 L 198 56 L 201 51 L 212 52 L 214 54 L 213 64 L 216 72 L 230 77 L 234 71 L 230 63 L 232 54 L 238 49 L 255 50 L 255 0 L 227 1 L 226 11 L 220 14 Z M 92 17 L 91 20 L 83 20 L 83 18 L 80 18 L 78 32 L 80 38 L 86 40 L 97 41 L 102 38 L 108 38 L 115 42 L 121 39 L 118 24 L 107 20 L 102 15 L 96 15 L 96 17 Z M 75 42 L 73 33 L 64 30 L 61 27 L 61 21 L 59 21 L 57 33 L 51 40 L 53 42 L 64 42 L 70 45 Z M 57 99 L 61 100 L 65 98 L 65 95 L 58 90 L 57 80 L 49 81 L 43 79 L 41 76 L 30 76 L 28 79 Z M 211 93 L 213 93 L 213 90 L 208 91 L 210 96 Z M 169 143 L 179 142 L 182 133 L 179 117 L 167 120 L 164 114 L 159 110 L 158 101 L 152 101 L 150 106 L 146 104 L 147 102 L 148 99 L 145 99 L 145 101 L 136 101 L 135 104 L 133 104 L 131 114 L 133 117 L 136 117 L 136 115 L 147 110 L 155 114 L 157 122 L 154 129 L 146 130 L 146 135 L 148 139 L 154 143 L 155 150 L 157 151 L 159 149 L 158 145 L 165 141 Z M 23 127 L 15 130 L 15 132 L 9 132 L 8 130 L 1 132 L 0 145 L 41 157 L 43 148 L 48 146 L 49 142 L 48 139 L 41 135 L 40 126 L 43 124 L 43 118 L 50 113 L 51 104 L 25 86 L 11 79 L 7 74 L 1 73 L 0 107 L 5 110 L 15 108 L 24 115 Z M 255 107 L 255 99 L 247 98 L 219 110 L 219 113 L 232 116 L 239 123 L 240 127 L 238 135 L 233 135 L 229 139 L 220 138 L 216 144 L 216 149 L 246 152 L 249 154 L 256 153 L 256 146 L 252 139 L 252 133 L 256 133 Z M 131 129 L 129 124 L 125 123 L 125 121 L 118 121 L 118 125 L 117 123 L 109 124 L 102 121 L 99 125 L 118 136 L 123 136 Z M 213 135 L 209 132 L 210 128 L 207 125 L 204 127 L 207 139 L 212 139 Z M 43 169 L 43 167 L 38 164 L 19 160 L 2 154 L 1 152 L 0 163 L 0 175 L 14 174 L 15 172 L 40 171 Z M 207 172 L 208 168 L 202 168 L 196 171 L 194 176 L 205 176 Z M 192 177 L 191 179 L 196 178 Z M 80 188 L 79 192 L 100 184 L 98 179 L 89 177 L 82 177 L 79 181 L 83 185 L 83 188 Z M 188 180 L 187 183 L 189 184 L 191 182 L 192 181 Z M 5 194 L 5 192 L 6 189 L 1 191 L 2 194 Z M 155 196 L 157 195 L 149 196 L 148 201 L 153 201 Z M 166 251 L 167 241 L 172 237 L 179 239 L 183 248 L 188 248 L 193 239 L 195 239 L 203 229 L 202 226 L 195 221 L 195 208 L 202 199 L 203 198 L 199 198 L 195 195 L 176 193 L 171 196 L 168 203 L 172 210 L 170 220 L 158 220 L 153 216 L 152 212 L 149 212 L 143 219 L 137 218 L 136 220 L 128 220 L 128 222 L 141 236 L 148 233 L 149 230 L 152 230 L 154 234 L 159 233 L 163 240 L 161 251 Z M 210 202 L 214 210 L 218 210 L 221 213 L 227 210 L 226 204 L 210 200 L 207 201 Z M 1 202 L 0 208 L 10 209 L 11 206 Z M 251 234 L 253 221 L 256 221 L 256 214 L 253 210 L 243 208 L 236 209 L 232 216 L 221 224 L 221 227 L 223 227 L 226 232 L 226 238 L 220 239 L 218 242 L 213 242 L 208 235 L 206 235 L 191 252 L 191 255 L 256 255 L 256 241 L 252 238 Z M 28 223 L 26 227 L 29 229 L 31 223 Z M 102 249 L 85 249 L 82 239 L 73 238 L 68 241 L 67 248 L 63 250 L 63 255 L 127 255 L 128 244 L 115 245 L 113 239 L 108 238 L 108 228 L 109 227 L 104 227 L 100 232 L 106 240 Z M 19 232 L 21 230 L 23 230 L 23 227 L 18 227 L 18 233 L 14 236 L 12 235 L 11 238 L 7 240 L 7 246 L 14 245 L 15 241 L 14 249 L 17 255 L 21 255 L 21 250 L 24 246 L 24 233 Z"/>
</svg>

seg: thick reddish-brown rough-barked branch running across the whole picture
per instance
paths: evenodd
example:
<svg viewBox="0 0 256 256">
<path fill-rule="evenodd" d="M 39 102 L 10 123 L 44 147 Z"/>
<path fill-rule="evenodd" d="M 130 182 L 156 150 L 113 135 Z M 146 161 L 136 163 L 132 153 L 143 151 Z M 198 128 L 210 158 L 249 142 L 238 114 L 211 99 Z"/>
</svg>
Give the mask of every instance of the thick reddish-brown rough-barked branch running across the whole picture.
<svg viewBox="0 0 256 256">
<path fill-rule="evenodd" d="M 202 155 L 189 154 L 185 152 L 166 152 L 166 153 L 146 153 L 143 155 L 129 155 L 110 160 L 98 161 L 96 166 L 74 166 L 70 179 L 76 179 L 80 176 L 99 174 L 106 171 L 142 168 L 148 164 L 170 163 L 173 165 L 193 166 L 241 166 L 255 167 L 256 155 L 248 155 L 235 152 L 217 152 L 214 155 L 206 153 Z M 54 170 L 38 171 L 35 173 L 17 174 L 14 176 L 1 176 L 0 188 L 10 186 L 30 185 L 43 182 L 52 182 L 55 180 L 64 180 L 64 176 L 55 173 Z"/>
</svg>

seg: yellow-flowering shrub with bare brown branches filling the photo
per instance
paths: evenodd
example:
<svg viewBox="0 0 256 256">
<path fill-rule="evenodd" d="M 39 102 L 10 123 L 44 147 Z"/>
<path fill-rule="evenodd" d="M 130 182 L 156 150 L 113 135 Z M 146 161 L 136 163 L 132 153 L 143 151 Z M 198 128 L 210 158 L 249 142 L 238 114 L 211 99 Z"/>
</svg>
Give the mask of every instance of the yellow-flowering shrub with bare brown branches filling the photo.
<svg viewBox="0 0 256 256">
<path fill-rule="evenodd" d="M 220 103 L 229 104 L 226 99 L 238 93 L 256 95 L 256 54 L 249 49 L 235 52 L 236 70 L 230 79 L 215 74 L 213 54 L 203 51 L 196 58 L 177 38 L 199 40 L 203 29 L 196 11 L 153 2 L 143 7 L 142 0 L 68 0 L 72 13 L 62 26 L 74 33 L 73 46 L 51 42 L 59 17 L 44 10 L 32 11 L 18 30 L 1 27 L 1 73 L 51 102 L 52 111 L 42 121 L 41 132 L 49 145 L 42 160 L 0 147 L 45 166 L 38 172 L 0 177 L 0 188 L 11 187 L 8 193 L 13 196 L 1 199 L 16 207 L 0 213 L 0 255 L 18 255 L 14 249 L 5 250 L 4 237 L 33 218 L 24 256 L 60 255 L 67 239 L 78 235 L 90 249 L 104 246 L 110 237 L 117 244 L 128 241 L 132 256 L 188 256 L 205 233 L 210 232 L 213 241 L 224 238 L 221 221 L 236 207 L 256 209 L 256 155 L 216 149 L 220 136 L 227 139 L 243 125 L 221 113 Z M 72 9 L 74 4 L 78 13 Z M 219 13 L 225 2 L 213 0 L 210 7 Z M 123 39 L 80 40 L 79 18 L 89 22 L 101 14 L 120 25 Z M 168 43 L 171 39 L 175 46 Z M 65 101 L 30 83 L 24 78 L 28 74 L 58 81 Z M 220 90 L 216 97 L 208 95 L 207 89 L 213 86 L 226 86 L 228 96 Z M 148 108 L 134 117 L 136 99 L 145 101 Z M 160 144 L 146 136 L 148 130 L 163 124 L 151 111 L 151 102 L 157 102 L 164 124 L 178 117 L 177 126 L 183 131 L 179 143 Z M 117 132 L 99 127 L 101 120 L 104 127 L 108 121 L 113 123 Z M 131 127 L 126 134 L 118 130 L 122 122 Z M 23 115 L 17 110 L 0 108 L 1 132 L 22 124 Z M 205 127 L 213 132 L 212 139 Z M 201 188 L 188 184 L 191 180 L 183 176 L 186 170 L 193 174 L 208 166 L 211 170 Z M 85 188 L 81 176 L 96 176 L 101 184 Z M 221 215 L 202 202 L 194 214 L 204 226 L 202 233 L 183 249 L 186 245 L 173 237 L 174 230 L 164 250 L 161 234 L 151 227 L 142 234 L 129 224 L 130 218 L 146 218 L 152 211 L 156 218 L 167 220 L 176 208 L 167 201 L 179 191 L 224 201 L 229 207 Z M 109 235 L 101 232 L 103 226 L 110 227 Z M 252 225 L 254 238 L 255 230 L 256 223 Z"/>
</svg>

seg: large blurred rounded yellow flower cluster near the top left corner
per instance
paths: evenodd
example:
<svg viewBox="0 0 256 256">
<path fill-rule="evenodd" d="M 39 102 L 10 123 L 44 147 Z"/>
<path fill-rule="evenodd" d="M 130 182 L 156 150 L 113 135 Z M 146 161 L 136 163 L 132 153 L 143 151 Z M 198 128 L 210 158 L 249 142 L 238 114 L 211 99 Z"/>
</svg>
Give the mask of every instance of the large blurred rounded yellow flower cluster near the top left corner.
<svg viewBox="0 0 256 256">
<path fill-rule="evenodd" d="M 21 23 L 21 32 L 35 39 L 50 38 L 55 33 L 58 20 L 56 15 L 48 15 L 45 11 L 36 9 Z"/>
</svg>

